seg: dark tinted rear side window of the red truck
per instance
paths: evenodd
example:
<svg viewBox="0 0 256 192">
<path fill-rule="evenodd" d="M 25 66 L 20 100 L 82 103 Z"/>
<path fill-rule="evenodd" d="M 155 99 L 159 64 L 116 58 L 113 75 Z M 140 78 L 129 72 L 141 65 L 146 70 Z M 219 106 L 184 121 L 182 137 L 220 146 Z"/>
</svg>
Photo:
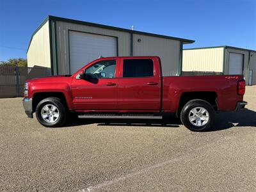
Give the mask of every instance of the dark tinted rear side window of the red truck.
<svg viewBox="0 0 256 192">
<path fill-rule="evenodd" d="M 153 71 L 153 60 L 124 60 L 123 77 L 150 77 Z"/>
</svg>

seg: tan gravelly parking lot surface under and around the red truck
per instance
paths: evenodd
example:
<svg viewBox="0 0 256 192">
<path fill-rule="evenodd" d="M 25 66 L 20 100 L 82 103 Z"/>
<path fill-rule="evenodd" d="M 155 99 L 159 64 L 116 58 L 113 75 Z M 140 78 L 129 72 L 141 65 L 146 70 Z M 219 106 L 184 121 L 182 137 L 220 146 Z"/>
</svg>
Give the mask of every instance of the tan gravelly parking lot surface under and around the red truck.
<svg viewBox="0 0 256 192">
<path fill-rule="evenodd" d="M 45 128 L 0 99 L 0 191 L 256 191 L 256 86 L 209 132 L 164 120 Z"/>
</svg>

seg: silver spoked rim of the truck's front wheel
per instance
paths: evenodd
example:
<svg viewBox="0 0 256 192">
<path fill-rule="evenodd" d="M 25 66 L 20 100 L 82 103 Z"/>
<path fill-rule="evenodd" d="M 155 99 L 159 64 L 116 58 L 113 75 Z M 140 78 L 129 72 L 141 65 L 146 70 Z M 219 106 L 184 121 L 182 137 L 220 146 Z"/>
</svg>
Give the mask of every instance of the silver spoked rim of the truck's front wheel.
<svg viewBox="0 0 256 192">
<path fill-rule="evenodd" d="M 41 116 L 47 123 L 55 123 L 59 116 L 59 109 L 53 104 L 46 104 L 41 110 Z"/>
</svg>

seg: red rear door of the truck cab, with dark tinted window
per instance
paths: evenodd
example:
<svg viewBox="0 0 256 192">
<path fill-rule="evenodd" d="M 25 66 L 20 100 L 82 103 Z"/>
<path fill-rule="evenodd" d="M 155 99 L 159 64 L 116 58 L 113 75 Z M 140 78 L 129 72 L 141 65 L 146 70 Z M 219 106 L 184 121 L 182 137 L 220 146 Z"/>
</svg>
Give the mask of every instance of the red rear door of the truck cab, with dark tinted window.
<svg viewBox="0 0 256 192">
<path fill-rule="evenodd" d="M 158 59 L 120 59 L 118 109 L 148 111 L 159 110 L 160 107 L 161 72 Z"/>
</svg>

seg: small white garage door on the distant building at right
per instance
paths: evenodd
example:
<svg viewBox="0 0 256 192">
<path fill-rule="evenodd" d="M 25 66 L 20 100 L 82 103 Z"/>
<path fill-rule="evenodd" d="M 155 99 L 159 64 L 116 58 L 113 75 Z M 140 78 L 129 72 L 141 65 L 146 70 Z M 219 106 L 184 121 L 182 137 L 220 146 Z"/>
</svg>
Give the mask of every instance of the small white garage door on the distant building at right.
<svg viewBox="0 0 256 192">
<path fill-rule="evenodd" d="M 229 53 L 229 74 L 243 74 L 243 54 Z"/>
</svg>

